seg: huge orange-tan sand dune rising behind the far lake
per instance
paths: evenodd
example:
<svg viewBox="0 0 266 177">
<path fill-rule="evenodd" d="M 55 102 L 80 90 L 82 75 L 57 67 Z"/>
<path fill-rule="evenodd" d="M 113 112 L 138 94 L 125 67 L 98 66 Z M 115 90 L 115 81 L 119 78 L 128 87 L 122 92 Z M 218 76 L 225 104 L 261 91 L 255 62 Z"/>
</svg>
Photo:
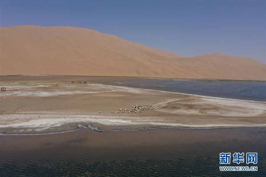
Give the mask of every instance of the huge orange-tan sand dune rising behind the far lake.
<svg viewBox="0 0 266 177">
<path fill-rule="evenodd" d="M 1 27 L 1 75 L 265 80 L 265 64 L 220 53 L 184 58 L 76 27 Z M 192 49 L 193 50 L 193 49 Z"/>
</svg>

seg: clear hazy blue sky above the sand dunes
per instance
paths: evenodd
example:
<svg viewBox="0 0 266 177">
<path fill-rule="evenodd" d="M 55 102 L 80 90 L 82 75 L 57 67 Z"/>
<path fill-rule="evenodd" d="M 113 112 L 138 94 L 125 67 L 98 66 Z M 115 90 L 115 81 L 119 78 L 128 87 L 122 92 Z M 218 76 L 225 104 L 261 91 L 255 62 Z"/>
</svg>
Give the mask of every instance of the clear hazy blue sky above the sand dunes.
<svg viewBox="0 0 266 177">
<path fill-rule="evenodd" d="M 1 27 L 72 26 L 192 57 L 265 63 L 266 1 L 1 1 Z"/>
</svg>

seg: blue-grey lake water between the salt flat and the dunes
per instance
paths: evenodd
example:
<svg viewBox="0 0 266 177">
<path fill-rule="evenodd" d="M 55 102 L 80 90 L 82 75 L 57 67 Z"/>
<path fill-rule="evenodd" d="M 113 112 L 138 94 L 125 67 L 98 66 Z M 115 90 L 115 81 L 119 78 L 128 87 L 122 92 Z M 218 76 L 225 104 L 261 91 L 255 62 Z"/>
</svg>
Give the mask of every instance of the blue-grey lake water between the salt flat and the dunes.
<svg viewBox="0 0 266 177">
<path fill-rule="evenodd" d="M 116 81 L 123 82 L 123 84 L 119 85 Z M 109 82 L 101 80 L 99 83 L 220 98 L 266 101 L 266 82 L 171 81 L 162 79 L 116 78 L 109 80 Z M 142 84 L 144 85 L 142 86 Z M 155 87 L 156 85 L 165 85 L 166 87 Z"/>
</svg>

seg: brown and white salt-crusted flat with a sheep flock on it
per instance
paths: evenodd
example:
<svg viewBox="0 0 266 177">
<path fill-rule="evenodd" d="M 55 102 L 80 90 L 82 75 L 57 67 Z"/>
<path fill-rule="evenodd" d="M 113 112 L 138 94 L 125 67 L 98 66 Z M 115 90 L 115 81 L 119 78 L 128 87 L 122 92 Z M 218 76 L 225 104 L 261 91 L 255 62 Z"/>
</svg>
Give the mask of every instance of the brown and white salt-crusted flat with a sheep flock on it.
<svg viewBox="0 0 266 177">
<path fill-rule="evenodd" d="M 61 132 L 77 124 L 102 130 L 266 126 L 265 102 L 101 84 L 1 91 L 0 103 L 4 134 Z"/>
</svg>

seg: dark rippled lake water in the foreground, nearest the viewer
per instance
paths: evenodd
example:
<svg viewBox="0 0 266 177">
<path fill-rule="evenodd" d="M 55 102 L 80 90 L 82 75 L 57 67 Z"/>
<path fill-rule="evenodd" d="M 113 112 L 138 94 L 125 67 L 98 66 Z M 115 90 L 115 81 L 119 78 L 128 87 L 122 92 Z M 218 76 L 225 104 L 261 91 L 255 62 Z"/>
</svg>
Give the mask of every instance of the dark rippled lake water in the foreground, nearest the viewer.
<svg viewBox="0 0 266 177">
<path fill-rule="evenodd" d="M 265 127 L 123 132 L 81 128 L 51 135 L 1 135 L 0 174 L 265 176 L 265 133 Z M 221 152 L 257 152 L 258 171 L 220 172 Z"/>
</svg>

